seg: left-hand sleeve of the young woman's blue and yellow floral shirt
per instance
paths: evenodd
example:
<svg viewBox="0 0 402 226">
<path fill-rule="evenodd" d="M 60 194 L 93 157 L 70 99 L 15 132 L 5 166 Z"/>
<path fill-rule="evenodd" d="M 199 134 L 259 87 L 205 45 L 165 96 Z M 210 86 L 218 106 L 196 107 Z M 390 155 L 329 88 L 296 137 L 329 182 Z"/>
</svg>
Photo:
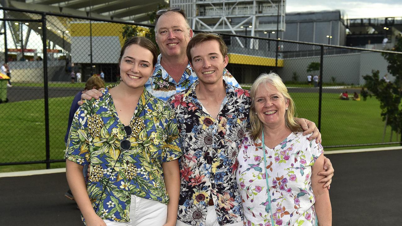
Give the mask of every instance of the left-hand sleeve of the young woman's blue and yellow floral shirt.
<svg viewBox="0 0 402 226">
<path fill-rule="evenodd" d="M 71 123 L 70 135 L 67 141 L 66 155 L 64 158 L 80 165 L 89 164 L 89 138 L 87 119 L 89 106 L 86 101 L 76 111 Z"/>
</svg>

